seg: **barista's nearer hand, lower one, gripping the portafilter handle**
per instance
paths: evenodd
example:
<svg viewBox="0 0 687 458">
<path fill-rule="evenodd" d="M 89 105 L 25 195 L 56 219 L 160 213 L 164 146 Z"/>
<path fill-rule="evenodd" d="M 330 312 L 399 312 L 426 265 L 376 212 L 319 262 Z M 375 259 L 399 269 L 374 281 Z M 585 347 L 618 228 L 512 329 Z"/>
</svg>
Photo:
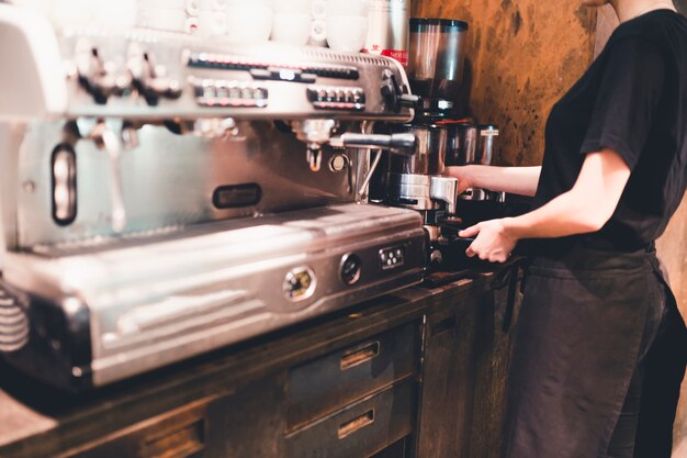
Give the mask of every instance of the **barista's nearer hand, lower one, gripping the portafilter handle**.
<svg viewBox="0 0 687 458">
<path fill-rule="evenodd" d="M 506 262 L 518 244 L 517 238 L 507 234 L 505 220 L 485 221 L 458 235 L 463 238 L 475 237 L 465 254 L 489 262 Z"/>
</svg>

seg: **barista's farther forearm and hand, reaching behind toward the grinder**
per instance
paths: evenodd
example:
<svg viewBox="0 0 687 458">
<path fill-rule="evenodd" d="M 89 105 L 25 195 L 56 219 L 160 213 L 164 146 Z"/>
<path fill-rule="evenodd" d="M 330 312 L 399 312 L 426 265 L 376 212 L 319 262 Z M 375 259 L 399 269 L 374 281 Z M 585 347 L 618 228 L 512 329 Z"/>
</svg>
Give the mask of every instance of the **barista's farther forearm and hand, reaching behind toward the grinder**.
<svg viewBox="0 0 687 458">
<path fill-rule="evenodd" d="M 446 174 L 458 178 L 458 190 L 463 193 L 469 188 L 533 197 L 537 193 L 541 167 L 491 167 L 463 166 L 447 167 Z"/>
</svg>

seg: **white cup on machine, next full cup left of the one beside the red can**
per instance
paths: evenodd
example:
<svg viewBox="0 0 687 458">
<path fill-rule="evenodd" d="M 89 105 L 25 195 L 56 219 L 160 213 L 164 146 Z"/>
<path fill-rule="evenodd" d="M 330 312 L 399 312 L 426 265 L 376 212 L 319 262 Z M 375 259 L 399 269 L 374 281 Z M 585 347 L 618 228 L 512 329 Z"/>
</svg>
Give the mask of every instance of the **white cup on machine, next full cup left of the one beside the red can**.
<svg viewBox="0 0 687 458">
<path fill-rule="evenodd" d="M 311 37 L 312 0 L 273 0 L 272 41 L 304 46 Z"/>
</svg>

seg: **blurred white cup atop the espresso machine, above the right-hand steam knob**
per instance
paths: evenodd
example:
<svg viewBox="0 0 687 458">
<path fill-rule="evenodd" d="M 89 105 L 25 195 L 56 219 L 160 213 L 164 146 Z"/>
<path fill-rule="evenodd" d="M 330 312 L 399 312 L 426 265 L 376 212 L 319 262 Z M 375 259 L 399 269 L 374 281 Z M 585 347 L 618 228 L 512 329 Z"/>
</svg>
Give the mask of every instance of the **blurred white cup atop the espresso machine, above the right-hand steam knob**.
<svg viewBox="0 0 687 458">
<path fill-rule="evenodd" d="M 138 0 L 140 27 L 191 33 L 198 27 L 199 0 Z"/>
</svg>

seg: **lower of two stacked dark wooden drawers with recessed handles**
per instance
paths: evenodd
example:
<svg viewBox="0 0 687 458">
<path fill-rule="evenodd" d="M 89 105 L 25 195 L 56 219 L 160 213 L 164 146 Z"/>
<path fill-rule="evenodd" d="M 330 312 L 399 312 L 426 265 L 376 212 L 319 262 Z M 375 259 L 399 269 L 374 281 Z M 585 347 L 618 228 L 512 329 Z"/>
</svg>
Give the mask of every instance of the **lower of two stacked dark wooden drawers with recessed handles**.
<svg viewBox="0 0 687 458">
<path fill-rule="evenodd" d="M 286 437 L 289 458 L 363 458 L 413 432 L 415 381 L 407 379 Z"/>
</svg>

